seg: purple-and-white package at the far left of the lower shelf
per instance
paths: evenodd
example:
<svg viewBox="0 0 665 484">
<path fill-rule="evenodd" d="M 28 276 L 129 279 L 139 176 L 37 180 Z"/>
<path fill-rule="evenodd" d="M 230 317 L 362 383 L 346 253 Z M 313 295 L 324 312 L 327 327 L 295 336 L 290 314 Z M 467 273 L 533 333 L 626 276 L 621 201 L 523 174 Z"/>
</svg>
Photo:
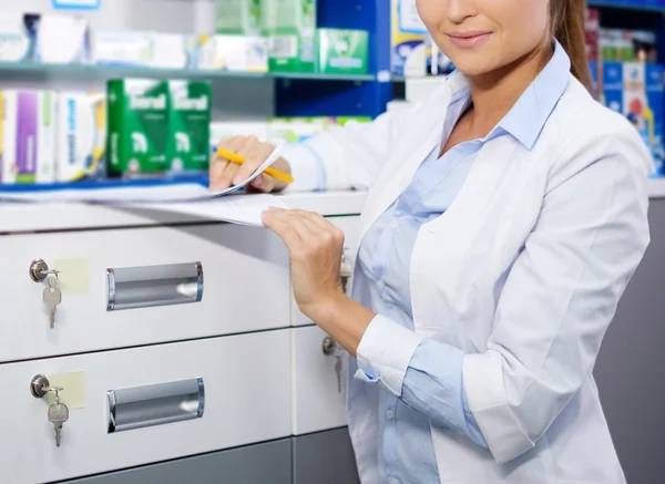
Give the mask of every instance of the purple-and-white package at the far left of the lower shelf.
<svg viewBox="0 0 665 484">
<path fill-rule="evenodd" d="M 55 179 L 55 99 L 53 91 L 1 91 L 0 183 Z"/>
</svg>

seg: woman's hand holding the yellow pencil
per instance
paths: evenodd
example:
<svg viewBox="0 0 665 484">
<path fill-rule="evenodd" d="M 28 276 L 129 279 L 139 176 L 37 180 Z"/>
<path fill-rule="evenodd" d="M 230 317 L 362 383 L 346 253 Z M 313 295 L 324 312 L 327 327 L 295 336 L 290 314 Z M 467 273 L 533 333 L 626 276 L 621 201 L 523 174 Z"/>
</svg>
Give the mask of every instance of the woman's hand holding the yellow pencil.
<svg viewBox="0 0 665 484">
<path fill-rule="evenodd" d="M 218 192 L 237 185 L 249 177 L 270 156 L 275 146 L 263 143 L 256 136 L 234 136 L 219 143 L 221 150 L 237 153 L 245 158 L 239 165 L 215 154 L 211 162 L 209 178 L 211 189 Z M 290 174 L 290 166 L 284 158 L 278 158 L 273 165 L 275 169 Z M 286 187 L 286 183 L 262 173 L 252 183 L 245 186 L 248 192 L 278 192 Z"/>
</svg>

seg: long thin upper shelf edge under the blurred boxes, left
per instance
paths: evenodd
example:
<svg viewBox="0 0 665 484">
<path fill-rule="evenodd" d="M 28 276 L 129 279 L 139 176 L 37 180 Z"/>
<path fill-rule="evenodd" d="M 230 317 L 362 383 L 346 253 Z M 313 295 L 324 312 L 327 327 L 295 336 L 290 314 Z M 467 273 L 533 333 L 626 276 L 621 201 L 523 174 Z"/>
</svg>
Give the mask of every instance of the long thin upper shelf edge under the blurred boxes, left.
<svg viewBox="0 0 665 484">
<path fill-rule="evenodd" d="M 294 79 L 310 81 L 346 81 L 371 82 L 372 74 L 318 74 L 298 72 L 239 72 L 214 71 L 195 69 L 160 69 L 125 65 L 92 65 L 92 64 L 45 64 L 0 62 L 0 73 L 28 74 L 54 78 L 150 78 L 150 79 L 204 79 L 204 80 L 244 80 L 244 79 Z"/>
</svg>

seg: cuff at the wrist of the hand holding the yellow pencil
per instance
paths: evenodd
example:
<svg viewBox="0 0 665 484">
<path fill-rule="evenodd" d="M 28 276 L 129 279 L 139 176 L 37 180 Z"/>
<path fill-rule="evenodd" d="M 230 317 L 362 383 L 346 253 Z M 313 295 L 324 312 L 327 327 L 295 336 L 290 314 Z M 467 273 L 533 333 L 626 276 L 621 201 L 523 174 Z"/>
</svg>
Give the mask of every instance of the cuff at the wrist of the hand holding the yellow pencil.
<svg viewBox="0 0 665 484">
<path fill-rule="evenodd" d="M 282 157 L 291 168 L 294 183 L 285 192 L 314 192 L 326 188 L 326 167 L 320 155 L 306 143 L 284 147 Z"/>
</svg>

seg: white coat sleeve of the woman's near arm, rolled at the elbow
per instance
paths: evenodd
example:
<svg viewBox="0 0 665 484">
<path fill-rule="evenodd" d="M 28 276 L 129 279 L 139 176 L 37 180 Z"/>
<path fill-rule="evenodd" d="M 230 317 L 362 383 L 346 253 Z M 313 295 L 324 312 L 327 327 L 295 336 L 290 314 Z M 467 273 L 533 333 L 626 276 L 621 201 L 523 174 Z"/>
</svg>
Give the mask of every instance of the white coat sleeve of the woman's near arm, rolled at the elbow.
<svg viewBox="0 0 665 484">
<path fill-rule="evenodd" d="M 469 404 L 498 463 L 532 449 L 590 377 L 649 241 L 638 136 L 573 145 L 551 168 L 556 182 L 510 269 L 487 351 L 464 357 Z"/>
</svg>

